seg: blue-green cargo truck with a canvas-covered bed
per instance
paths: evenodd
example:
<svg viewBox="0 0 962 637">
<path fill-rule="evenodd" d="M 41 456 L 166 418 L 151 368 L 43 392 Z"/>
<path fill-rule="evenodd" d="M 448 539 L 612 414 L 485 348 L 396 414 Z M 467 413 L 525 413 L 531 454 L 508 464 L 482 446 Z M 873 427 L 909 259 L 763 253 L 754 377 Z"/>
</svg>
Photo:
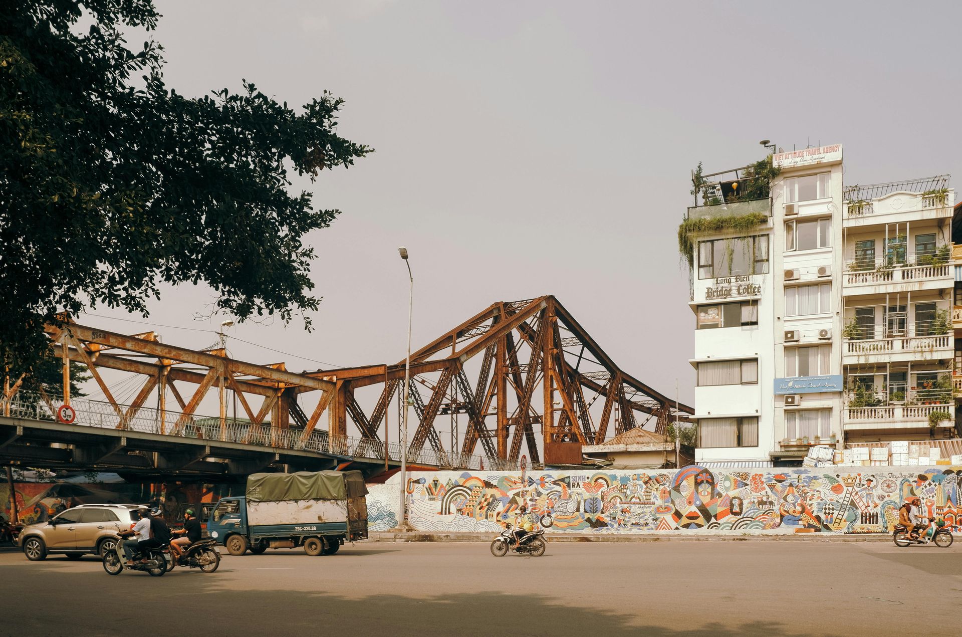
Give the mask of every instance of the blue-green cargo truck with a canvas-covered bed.
<svg viewBox="0 0 962 637">
<path fill-rule="evenodd" d="M 361 471 L 254 473 L 245 496 L 217 501 L 207 532 L 231 555 L 295 547 L 331 555 L 367 538 L 365 496 Z"/>
</svg>

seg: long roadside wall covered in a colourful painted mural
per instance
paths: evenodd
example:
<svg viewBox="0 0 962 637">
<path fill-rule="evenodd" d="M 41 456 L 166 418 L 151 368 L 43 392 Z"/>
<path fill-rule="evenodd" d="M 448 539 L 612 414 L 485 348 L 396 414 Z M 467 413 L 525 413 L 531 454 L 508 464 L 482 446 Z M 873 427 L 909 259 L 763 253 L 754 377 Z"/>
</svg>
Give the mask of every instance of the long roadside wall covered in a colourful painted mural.
<svg viewBox="0 0 962 637">
<path fill-rule="evenodd" d="M 547 532 L 889 533 L 905 497 L 962 532 L 962 467 L 709 471 L 437 471 L 409 475 L 422 531 L 499 531 L 523 502 Z M 392 528 L 399 476 L 368 487 L 369 529 Z"/>
</svg>

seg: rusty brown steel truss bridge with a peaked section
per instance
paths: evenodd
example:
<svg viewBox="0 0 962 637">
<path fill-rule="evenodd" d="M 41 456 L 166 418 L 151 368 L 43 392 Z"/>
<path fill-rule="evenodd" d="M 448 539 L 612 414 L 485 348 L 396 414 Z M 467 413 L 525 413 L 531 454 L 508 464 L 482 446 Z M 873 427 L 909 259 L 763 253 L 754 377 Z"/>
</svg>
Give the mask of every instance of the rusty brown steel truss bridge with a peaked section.
<svg viewBox="0 0 962 637">
<path fill-rule="evenodd" d="M 63 360 L 63 394 L 5 380 L 0 464 L 205 478 L 400 465 L 401 446 L 387 441 L 404 361 L 295 373 L 223 347 L 164 344 L 155 332 L 64 319 L 46 333 Z M 89 369 L 103 400 L 70 396 L 71 362 Z M 132 400 L 114 398 L 108 369 L 139 377 Z M 664 433 L 693 413 L 620 369 L 553 296 L 490 305 L 413 352 L 411 378 L 407 462 L 425 469 L 512 470 L 525 451 L 533 464 L 578 464 L 582 445 L 646 425 Z M 212 392 L 217 414 L 202 416 Z"/>
</svg>

